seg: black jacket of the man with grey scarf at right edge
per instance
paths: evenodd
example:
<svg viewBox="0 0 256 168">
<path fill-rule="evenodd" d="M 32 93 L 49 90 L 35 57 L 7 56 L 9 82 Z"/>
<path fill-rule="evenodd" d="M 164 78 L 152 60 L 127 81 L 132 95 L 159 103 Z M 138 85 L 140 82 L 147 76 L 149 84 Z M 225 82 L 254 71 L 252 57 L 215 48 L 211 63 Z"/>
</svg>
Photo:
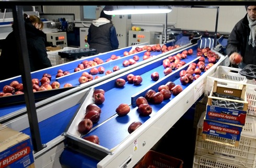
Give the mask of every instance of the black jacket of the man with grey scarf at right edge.
<svg viewBox="0 0 256 168">
<path fill-rule="evenodd" d="M 243 57 L 243 63 L 256 65 L 256 47 L 253 48 L 252 45 L 249 45 L 250 28 L 248 25 L 249 21 L 246 14 L 231 31 L 227 41 L 226 53 L 230 56 L 232 53 L 238 52 Z"/>
</svg>

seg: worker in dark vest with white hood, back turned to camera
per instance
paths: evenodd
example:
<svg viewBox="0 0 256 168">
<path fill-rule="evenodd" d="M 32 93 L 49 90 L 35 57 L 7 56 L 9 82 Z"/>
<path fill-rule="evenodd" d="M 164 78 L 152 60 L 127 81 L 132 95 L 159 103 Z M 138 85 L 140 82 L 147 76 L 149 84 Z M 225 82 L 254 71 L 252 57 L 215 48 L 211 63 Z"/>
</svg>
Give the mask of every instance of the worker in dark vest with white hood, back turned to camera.
<svg viewBox="0 0 256 168">
<path fill-rule="evenodd" d="M 119 41 L 117 32 L 111 19 L 111 15 L 106 15 L 102 10 L 100 18 L 93 20 L 90 25 L 87 42 L 90 45 L 90 49 L 96 49 L 97 53 L 118 49 Z"/>
</svg>

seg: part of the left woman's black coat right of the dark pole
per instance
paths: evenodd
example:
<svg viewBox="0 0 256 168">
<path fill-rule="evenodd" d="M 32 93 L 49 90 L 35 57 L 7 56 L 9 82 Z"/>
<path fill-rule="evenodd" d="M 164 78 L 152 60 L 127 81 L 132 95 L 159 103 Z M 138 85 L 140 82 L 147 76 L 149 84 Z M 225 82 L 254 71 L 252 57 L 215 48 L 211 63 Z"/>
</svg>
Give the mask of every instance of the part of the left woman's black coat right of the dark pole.
<svg viewBox="0 0 256 168">
<path fill-rule="evenodd" d="M 31 23 L 25 23 L 30 70 L 40 70 L 51 67 L 51 61 L 46 53 L 44 32 L 36 29 Z"/>
</svg>

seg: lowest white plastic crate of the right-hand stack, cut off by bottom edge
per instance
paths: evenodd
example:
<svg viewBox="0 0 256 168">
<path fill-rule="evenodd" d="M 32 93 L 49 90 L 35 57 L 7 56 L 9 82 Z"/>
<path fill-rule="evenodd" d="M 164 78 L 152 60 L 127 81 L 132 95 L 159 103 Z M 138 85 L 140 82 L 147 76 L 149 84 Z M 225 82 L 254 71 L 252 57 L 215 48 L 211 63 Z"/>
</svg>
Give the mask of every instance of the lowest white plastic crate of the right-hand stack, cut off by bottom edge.
<svg viewBox="0 0 256 168">
<path fill-rule="evenodd" d="M 193 168 L 249 168 L 236 161 L 229 161 L 213 155 L 194 155 Z"/>
</svg>

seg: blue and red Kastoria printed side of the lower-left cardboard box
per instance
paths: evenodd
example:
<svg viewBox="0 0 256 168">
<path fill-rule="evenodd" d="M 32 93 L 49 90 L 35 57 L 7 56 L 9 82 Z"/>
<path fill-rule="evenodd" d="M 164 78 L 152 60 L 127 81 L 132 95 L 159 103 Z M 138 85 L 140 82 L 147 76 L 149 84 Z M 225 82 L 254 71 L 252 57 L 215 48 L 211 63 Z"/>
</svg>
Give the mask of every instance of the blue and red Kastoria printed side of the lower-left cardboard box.
<svg viewBox="0 0 256 168">
<path fill-rule="evenodd" d="M 27 167 L 34 162 L 30 138 L 0 153 L 0 168 Z"/>
</svg>

